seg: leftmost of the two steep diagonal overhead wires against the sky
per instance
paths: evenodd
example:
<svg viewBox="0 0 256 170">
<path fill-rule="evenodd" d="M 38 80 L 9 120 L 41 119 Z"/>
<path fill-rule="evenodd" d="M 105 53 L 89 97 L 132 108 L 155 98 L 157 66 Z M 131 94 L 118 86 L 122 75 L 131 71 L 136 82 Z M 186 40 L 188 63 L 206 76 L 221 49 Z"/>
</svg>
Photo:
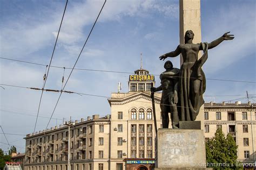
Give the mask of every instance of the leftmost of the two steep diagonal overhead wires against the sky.
<svg viewBox="0 0 256 170">
<path fill-rule="evenodd" d="M 63 15 L 62 15 L 62 21 L 60 22 L 60 25 L 59 25 L 58 34 L 57 34 L 57 38 L 56 38 L 56 41 L 55 41 L 55 45 L 54 45 L 54 47 L 53 47 L 53 51 L 52 51 L 52 55 L 51 55 L 50 64 L 49 64 L 48 71 L 47 71 L 47 74 L 46 74 L 46 77 L 45 77 L 45 80 L 44 80 L 44 84 L 43 84 L 43 89 L 44 89 L 44 87 L 45 87 L 45 83 L 46 83 L 46 80 L 47 80 L 47 78 L 48 78 L 48 74 L 49 74 L 49 70 L 50 70 L 50 66 L 51 66 L 51 61 L 52 61 L 52 58 L 53 58 L 53 54 L 54 54 L 54 52 L 55 52 L 57 40 L 58 40 L 58 37 L 59 37 L 60 27 L 62 27 L 62 22 L 63 22 L 63 18 L 64 18 L 64 15 L 65 15 L 65 11 L 66 11 L 66 6 L 67 6 L 67 5 L 68 5 L 68 0 L 66 0 L 65 9 L 64 9 L 64 12 L 63 12 Z M 47 66 L 46 66 L 46 67 L 47 67 Z M 37 111 L 37 117 L 36 117 L 36 123 L 35 123 L 35 128 L 34 128 L 34 131 L 33 131 L 34 133 L 35 133 L 35 131 L 36 131 L 36 124 L 37 124 L 37 119 L 38 119 L 38 115 L 39 115 L 39 110 L 40 110 L 40 106 L 41 106 L 41 102 L 42 102 L 43 93 L 44 93 L 44 90 L 42 90 L 41 97 L 40 97 L 40 101 L 39 101 L 39 106 L 38 106 L 38 111 Z"/>
</svg>

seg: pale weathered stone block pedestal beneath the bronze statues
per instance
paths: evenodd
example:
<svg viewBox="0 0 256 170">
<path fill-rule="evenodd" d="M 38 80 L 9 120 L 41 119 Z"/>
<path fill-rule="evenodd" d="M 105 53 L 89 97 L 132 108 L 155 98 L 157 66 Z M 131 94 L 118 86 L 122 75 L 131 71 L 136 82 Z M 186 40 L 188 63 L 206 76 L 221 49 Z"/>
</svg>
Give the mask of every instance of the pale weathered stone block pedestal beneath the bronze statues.
<svg viewBox="0 0 256 170">
<path fill-rule="evenodd" d="M 202 168 L 206 169 L 203 130 L 158 129 L 155 169 Z"/>
</svg>

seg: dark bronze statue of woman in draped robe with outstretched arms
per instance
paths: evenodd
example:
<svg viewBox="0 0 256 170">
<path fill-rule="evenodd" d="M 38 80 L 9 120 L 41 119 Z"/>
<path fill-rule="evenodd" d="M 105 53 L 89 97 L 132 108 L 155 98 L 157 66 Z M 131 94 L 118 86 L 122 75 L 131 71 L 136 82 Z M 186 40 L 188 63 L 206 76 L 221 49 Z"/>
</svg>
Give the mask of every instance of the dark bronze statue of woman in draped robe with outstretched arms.
<svg viewBox="0 0 256 170">
<path fill-rule="evenodd" d="M 194 121 L 199 113 L 201 105 L 204 104 L 203 94 L 206 88 L 205 74 L 201 67 L 208 58 L 207 50 L 216 47 L 224 40 L 234 39 L 234 35 L 226 32 L 220 38 L 207 43 L 193 44 L 194 33 L 191 30 L 185 33 L 185 44 L 180 44 L 175 51 L 161 55 L 160 60 L 167 57 L 175 57 L 180 53 L 183 63 L 179 73 L 178 114 L 180 121 Z M 204 51 L 203 56 L 198 59 L 198 52 Z"/>
</svg>

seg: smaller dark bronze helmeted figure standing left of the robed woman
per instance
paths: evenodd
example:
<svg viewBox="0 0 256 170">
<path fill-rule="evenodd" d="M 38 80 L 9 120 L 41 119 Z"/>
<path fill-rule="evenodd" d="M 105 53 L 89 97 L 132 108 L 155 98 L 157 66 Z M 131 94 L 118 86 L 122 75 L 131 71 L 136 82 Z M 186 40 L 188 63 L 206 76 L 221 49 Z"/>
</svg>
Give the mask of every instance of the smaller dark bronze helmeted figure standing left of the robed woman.
<svg viewBox="0 0 256 170">
<path fill-rule="evenodd" d="M 152 87 L 151 91 L 161 91 L 161 117 L 163 128 L 169 127 L 169 112 L 172 119 L 172 128 L 178 129 L 179 117 L 177 111 L 178 103 L 178 75 L 179 69 L 173 68 L 171 61 L 166 61 L 164 64 L 165 72 L 160 74 L 161 86 Z"/>
</svg>

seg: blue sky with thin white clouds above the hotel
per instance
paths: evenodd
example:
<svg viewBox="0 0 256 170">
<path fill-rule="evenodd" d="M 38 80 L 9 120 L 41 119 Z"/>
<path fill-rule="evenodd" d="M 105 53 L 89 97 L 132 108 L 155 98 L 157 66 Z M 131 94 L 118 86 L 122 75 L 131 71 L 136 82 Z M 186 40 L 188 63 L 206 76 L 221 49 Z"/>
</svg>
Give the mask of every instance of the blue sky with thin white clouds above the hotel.
<svg viewBox="0 0 256 170">
<path fill-rule="evenodd" d="M 49 65 L 65 3 L 64 0 L 0 2 L 0 84 L 42 88 L 45 66 L 2 58 Z M 75 65 L 103 3 L 103 0 L 68 2 L 51 66 Z M 244 97 L 248 91 L 249 100 L 255 103 L 256 84 L 248 83 L 256 82 L 255 9 L 254 0 L 201 1 L 202 41 L 211 42 L 227 31 L 235 37 L 208 51 L 203 67 L 207 79 L 206 102 L 247 102 Z M 107 0 L 76 68 L 133 73 L 140 68 L 140 53 L 143 53 L 143 68 L 159 75 L 164 71 L 164 61 L 159 56 L 173 51 L 178 44 L 179 1 Z M 179 68 L 179 56 L 169 60 Z M 45 88 L 60 90 L 62 76 L 65 83 L 70 71 L 50 67 Z M 48 128 L 62 124 L 63 118 L 66 121 L 70 116 L 75 121 L 95 114 L 110 114 L 107 97 L 117 92 L 118 82 L 122 83 L 121 93 L 127 93 L 128 78 L 127 73 L 74 70 L 65 90 L 105 97 L 63 93 Z M 160 84 L 157 76 L 156 84 Z M 0 130 L 0 148 L 8 151 L 9 142 L 18 152 L 25 152 L 23 137 L 35 128 L 41 91 L 1 86 L 0 124 L 5 133 L 11 134 L 6 134 L 6 141 Z M 46 128 L 58 97 L 59 93 L 43 93 L 36 131 Z"/>
</svg>

